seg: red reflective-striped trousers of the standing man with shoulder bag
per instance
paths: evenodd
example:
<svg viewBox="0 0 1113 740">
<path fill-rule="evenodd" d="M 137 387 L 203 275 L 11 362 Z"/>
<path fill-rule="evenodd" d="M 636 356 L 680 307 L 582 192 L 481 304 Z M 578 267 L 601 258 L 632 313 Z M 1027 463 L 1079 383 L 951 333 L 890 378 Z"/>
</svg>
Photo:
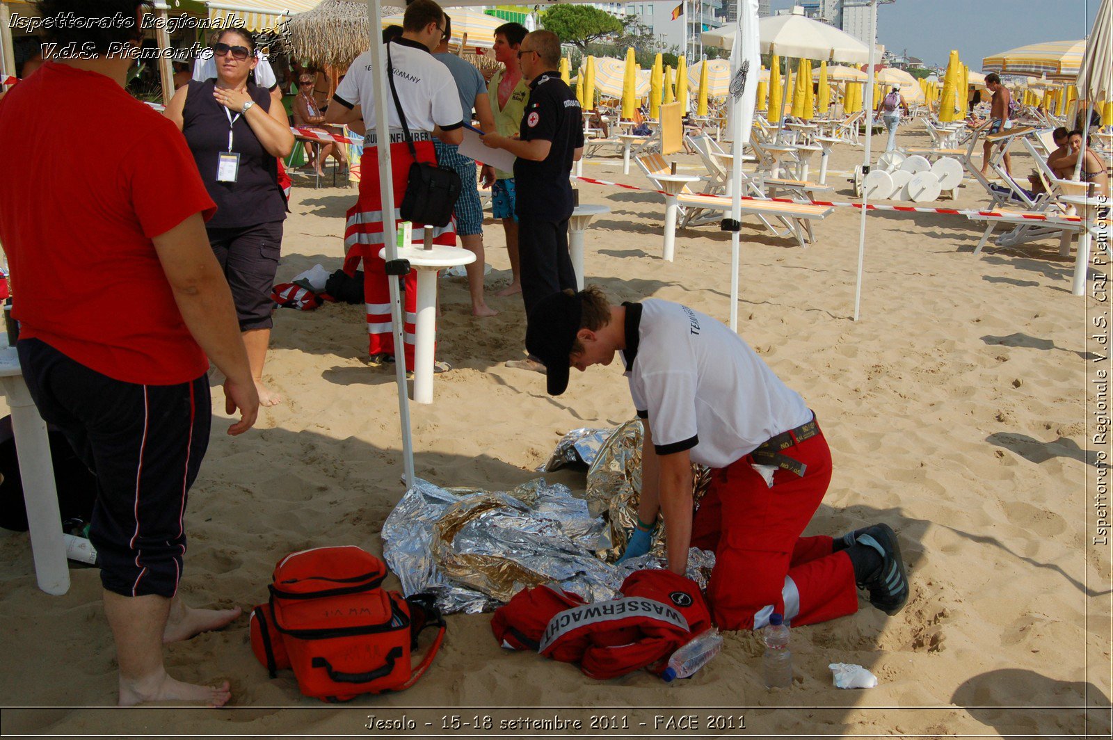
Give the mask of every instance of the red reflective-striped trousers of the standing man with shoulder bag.
<svg viewBox="0 0 1113 740">
<path fill-rule="evenodd" d="M 432 141 L 415 141 L 417 159 L 436 161 Z M 403 141 L 391 145 L 391 172 L 394 175 L 394 223 L 402 220 L 398 205 L 406 191 L 410 165 L 414 158 Z M 344 229 L 344 247 L 347 256 L 344 272 L 354 275 L 363 260 L 363 293 L 367 310 L 367 354 L 394 353 L 393 323 L 391 322 L 391 289 L 386 282 L 386 262 L 378 256 L 383 243 L 383 196 L 378 187 L 378 147 L 366 147 L 359 159 L 363 177 L 359 178 L 359 198 L 348 208 L 347 226 Z M 414 224 L 413 244 L 424 241 L 422 229 Z M 433 244 L 454 246 L 456 244 L 455 221 L 442 229 L 433 230 Z M 405 342 L 406 367 L 414 366 L 414 324 L 417 320 L 417 272 L 412 270 L 405 278 L 405 309 L 403 336 Z"/>
</svg>

